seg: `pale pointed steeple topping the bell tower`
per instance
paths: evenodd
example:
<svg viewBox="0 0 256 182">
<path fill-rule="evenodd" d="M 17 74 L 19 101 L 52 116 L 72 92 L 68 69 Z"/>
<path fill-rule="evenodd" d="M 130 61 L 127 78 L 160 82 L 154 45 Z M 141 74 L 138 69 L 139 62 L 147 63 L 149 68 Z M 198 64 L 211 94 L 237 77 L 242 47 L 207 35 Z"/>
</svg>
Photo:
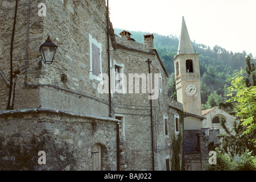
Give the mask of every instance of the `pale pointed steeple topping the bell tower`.
<svg viewBox="0 0 256 182">
<path fill-rule="evenodd" d="M 184 16 L 182 17 L 182 26 L 180 33 L 180 42 L 177 55 L 180 54 L 194 54 L 193 46 L 191 40 L 189 38 L 188 29 L 184 20 Z"/>
</svg>

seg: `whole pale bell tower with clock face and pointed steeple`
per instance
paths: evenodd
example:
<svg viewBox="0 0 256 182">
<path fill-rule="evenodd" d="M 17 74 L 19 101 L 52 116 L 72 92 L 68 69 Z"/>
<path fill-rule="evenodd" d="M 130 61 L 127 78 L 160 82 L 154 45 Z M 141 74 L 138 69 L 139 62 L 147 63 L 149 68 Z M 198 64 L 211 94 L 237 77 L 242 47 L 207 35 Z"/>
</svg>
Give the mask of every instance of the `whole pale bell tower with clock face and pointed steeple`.
<svg viewBox="0 0 256 182">
<path fill-rule="evenodd" d="M 201 116 L 199 54 L 193 50 L 184 17 L 174 65 L 177 101 L 185 112 Z"/>
</svg>

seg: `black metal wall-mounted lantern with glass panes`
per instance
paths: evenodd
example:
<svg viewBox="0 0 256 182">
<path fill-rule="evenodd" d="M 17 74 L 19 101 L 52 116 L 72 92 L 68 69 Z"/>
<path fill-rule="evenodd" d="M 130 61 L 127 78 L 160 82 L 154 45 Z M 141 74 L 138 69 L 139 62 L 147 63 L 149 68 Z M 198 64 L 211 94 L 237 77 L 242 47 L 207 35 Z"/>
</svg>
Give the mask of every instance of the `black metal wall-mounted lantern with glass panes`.
<svg viewBox="0 0 256 182">
<path fill-rule="evenodd" d="M 53 59 L 57 50 L 57 46 L 52 43 L 52 41 L 49 39 L 49 36 L 41 46 L 40 46 L 40 52 L 42 56 L 42 60 L 44 61 L 44 64 L 52 64 Z"/>
</svg>

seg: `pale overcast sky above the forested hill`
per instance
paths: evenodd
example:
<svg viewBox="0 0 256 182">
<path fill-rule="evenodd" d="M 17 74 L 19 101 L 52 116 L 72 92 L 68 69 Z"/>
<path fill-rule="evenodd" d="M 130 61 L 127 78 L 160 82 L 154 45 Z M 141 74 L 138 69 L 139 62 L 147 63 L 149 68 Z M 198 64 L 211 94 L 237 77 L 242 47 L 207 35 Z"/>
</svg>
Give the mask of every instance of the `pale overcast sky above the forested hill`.
<svg viewBox="0 0 256 182">
<path fill-rule="evenodd" d="M 192 41 L 256 57 L 256 0 L 109 0 L 109 6 L 114 28 L 179 38 L 184 16 Z"/>
</svg>

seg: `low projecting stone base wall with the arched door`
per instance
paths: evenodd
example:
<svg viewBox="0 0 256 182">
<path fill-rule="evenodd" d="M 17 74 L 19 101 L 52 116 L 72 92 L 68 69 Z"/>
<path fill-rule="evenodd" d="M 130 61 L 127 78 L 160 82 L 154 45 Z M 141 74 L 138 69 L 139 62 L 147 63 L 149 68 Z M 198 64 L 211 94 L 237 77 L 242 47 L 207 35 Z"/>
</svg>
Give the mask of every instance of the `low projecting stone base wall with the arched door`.
<svg viewBox="0 0 256 182">
<path fill-rule="evenodd" d="M 92 170 L 92 147 L 104 170 L 117 169 L 116 122 L 89 115 L 24 110 L 0 115 L 1 170 Z M 38 164 L 39 151 L 46 165 Z"/>
</svg>

